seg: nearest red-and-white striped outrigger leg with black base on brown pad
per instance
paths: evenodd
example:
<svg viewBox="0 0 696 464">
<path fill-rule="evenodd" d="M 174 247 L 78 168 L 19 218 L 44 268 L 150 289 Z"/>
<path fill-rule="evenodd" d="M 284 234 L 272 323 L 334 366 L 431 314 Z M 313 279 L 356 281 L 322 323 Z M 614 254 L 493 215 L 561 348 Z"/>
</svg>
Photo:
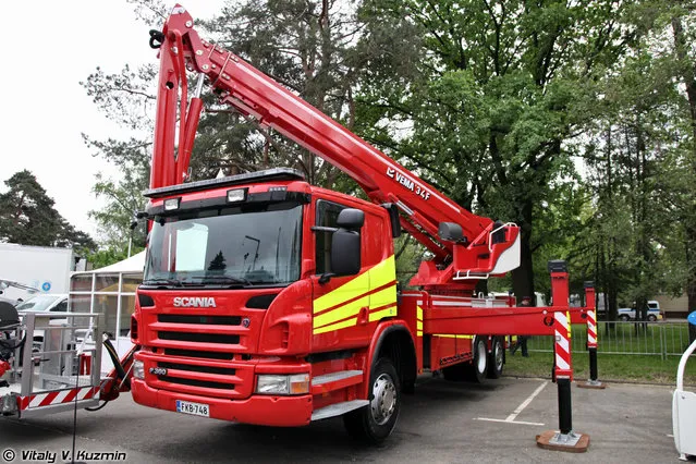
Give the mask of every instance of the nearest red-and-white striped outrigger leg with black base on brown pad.
<svg viewBox="0 0 696 464">
<path fill-rule="evenodd" d="M 589 436 L 573 430 L 571 381 L 571 315 L 569 310 L 567 267 L 565 261 L 549 261 L 553 296 L 553 379 L 559 391 L 559 431 L 548 430 L 537 436 L 537 445 L 548 450 L 583 453 L 589 447 Z M 563 309 L 564 310 L 559 310 Z"/>
</svg>

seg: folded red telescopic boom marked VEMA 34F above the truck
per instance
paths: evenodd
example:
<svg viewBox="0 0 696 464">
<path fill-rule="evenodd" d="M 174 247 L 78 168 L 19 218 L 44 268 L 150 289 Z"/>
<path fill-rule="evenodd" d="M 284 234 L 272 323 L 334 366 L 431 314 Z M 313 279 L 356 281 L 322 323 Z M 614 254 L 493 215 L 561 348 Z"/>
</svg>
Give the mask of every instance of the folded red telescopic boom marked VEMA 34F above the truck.
<svg viewBox="0 0 696 464">
<path fill-rule="evenodd" d="M 412 283 L 465 283 L 518 266 L 516 225 L 494 224 L 463 209 L 235 54 L 200 40 L 183 7 L 174 7 L 162 34 L 150 188 L 186 178 L 202 109 L 198 96 L 187 102 L 188 68 L 207 76 L 222 102 L 334 164 L 373 202 L 396 204 L 403 212 L 402 225 L 435 255 Z M 174 156 L 178 113 L 179 154 Z"/>
</svg>

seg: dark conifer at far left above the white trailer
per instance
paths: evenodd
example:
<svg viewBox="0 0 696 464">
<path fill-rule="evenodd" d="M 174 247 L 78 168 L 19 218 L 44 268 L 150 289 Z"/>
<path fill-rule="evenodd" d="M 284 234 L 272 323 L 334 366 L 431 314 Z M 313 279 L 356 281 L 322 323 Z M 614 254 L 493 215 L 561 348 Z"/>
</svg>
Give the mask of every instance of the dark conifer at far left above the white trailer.
<svg viewBox="0 0 696 464">
<path fill-rule="evenodd" d="M 75 230 L 53 208 L 36 176 L 27 170 L 14 173 L 0 194 L 0 241 L 21 245 L 96 248 L 86 233 Z"/>
</svg>

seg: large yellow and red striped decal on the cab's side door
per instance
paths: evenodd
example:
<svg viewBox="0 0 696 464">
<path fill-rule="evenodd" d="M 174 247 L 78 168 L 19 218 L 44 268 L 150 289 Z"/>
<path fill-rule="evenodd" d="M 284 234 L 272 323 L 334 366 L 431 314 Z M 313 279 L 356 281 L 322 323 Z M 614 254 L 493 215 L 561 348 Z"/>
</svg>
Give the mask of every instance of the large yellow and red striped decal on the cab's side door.
<svg viewBox="0 0 696 464">
<path fill-rule="evenodd" d="M 362 308 L 369 321 L 396 316 L 396 267 L 394 256 L 321 295 L 313 302 L 313 333 L 353 327 Z"/>
</svg>

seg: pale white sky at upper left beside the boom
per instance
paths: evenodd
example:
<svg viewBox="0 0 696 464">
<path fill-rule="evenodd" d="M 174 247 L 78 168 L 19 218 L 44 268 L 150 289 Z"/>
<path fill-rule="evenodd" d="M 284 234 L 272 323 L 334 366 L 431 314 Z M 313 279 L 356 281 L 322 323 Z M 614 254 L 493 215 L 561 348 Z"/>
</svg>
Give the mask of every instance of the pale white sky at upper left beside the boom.
<svg viewBox="0 0 696 464">
<path fill-rule="evenodd" d="M 212 16 L 224 3 L 181 2 L 194 21 Z M 126 63 L 132 69 L 156 63 L 157 51 L 148 46 L 154 26 L 138 21 L 125 0 L 14 0 L 3 2 L 2 16 L 0 192 L 7 191 L 5 180 L 27 169 L 70 223 L 98 237 L 87 215 L 102 205 L 91 193 L 95 174 L 118 180 L 120 173 L 93 157 L 81 134 L 127 138 L 129 133 L 99 112 L 80 82 L 97 66 L 118 73 Z"/>
</svg>

